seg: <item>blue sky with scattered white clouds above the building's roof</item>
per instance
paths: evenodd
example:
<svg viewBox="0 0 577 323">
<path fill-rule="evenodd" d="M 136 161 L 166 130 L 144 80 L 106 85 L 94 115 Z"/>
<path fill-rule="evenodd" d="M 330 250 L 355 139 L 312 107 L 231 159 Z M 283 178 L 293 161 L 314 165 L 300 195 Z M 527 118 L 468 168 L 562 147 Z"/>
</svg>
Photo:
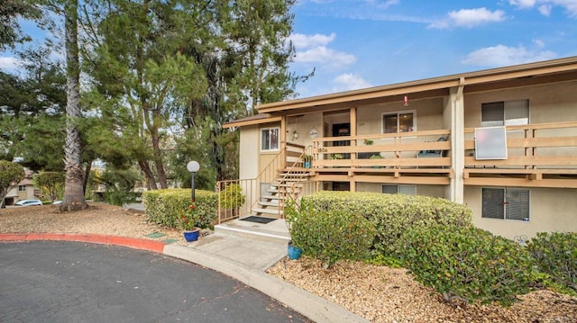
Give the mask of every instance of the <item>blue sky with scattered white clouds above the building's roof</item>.
<svg viewBox="0 0 577 323">
<path fill-rule="evenodd" d="M 301 0 L 298 97 L 577 56 L 577 0 Z"/>
</svg>

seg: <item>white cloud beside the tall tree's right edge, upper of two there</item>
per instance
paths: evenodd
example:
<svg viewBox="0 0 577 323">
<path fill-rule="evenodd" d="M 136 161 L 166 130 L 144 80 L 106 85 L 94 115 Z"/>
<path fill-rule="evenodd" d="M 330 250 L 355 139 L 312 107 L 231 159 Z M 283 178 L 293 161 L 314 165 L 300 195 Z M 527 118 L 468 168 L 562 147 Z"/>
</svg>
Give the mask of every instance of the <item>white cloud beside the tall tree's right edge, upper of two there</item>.
<svg viewBox="0 0 577 323">
<path fill-rule="evenodd" d="M 314 34 L 293 34 L 290 36 L 297 52 L 295 53 L 296 63 L 319 63 L 331 67 L 345 67 L 356 62 L 357 58 L 352 54 L 334 50 L 326 45 L 336 39 L 336 35 Z"/>
</svg>

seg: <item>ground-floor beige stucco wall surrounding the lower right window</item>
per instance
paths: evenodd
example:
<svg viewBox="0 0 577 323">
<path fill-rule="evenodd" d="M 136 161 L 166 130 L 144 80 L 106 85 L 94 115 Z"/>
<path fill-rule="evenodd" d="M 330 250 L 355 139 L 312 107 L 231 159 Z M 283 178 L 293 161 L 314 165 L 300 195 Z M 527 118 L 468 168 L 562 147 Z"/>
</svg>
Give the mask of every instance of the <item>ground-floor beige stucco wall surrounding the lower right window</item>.
<svg viewBox="0 0 577 323">
<path fill-rule="evenodd" d="M 577 231 L 577 189 L 531 188 L 530 220 L 499 220 L 481 218 L 481 187 L 466 186 L 464 202 L 473 211 L 475 226 L 505 238 L 525 235 L 532 238 L 537 232 Z"/>
</svg>

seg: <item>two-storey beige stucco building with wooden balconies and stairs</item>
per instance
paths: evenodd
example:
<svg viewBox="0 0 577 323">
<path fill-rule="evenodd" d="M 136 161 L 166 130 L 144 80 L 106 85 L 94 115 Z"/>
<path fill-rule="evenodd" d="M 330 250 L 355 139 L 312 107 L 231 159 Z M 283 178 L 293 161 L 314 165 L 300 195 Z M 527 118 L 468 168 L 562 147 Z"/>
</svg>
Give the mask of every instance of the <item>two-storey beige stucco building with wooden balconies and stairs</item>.
<svg viewBox="0 0 577 323">
<path fill-rule="evenodd" d="M 298 183 L 442 197 L 507 238 L 577 231 L 577 57 L 257 109 L 225 125 L 241 131 L 244 213 L 281 216 L 275 196 Z"/>
</svg>

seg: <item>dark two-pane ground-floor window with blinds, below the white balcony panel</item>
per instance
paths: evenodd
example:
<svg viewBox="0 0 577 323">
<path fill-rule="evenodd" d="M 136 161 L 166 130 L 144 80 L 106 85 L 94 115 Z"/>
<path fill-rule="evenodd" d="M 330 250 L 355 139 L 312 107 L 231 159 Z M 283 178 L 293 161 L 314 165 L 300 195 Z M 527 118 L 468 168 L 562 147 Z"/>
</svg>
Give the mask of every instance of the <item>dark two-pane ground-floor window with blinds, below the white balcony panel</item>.
<svg viewBox="0 0 577 323">
<path fill-rule="evenodd" d="M 529 190 L 483 188 L 481 217 L 528 221 L 529 200 Z"/>
</svg>

